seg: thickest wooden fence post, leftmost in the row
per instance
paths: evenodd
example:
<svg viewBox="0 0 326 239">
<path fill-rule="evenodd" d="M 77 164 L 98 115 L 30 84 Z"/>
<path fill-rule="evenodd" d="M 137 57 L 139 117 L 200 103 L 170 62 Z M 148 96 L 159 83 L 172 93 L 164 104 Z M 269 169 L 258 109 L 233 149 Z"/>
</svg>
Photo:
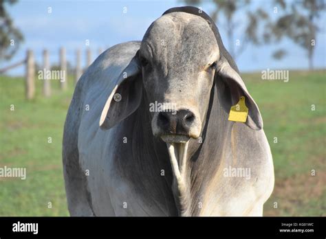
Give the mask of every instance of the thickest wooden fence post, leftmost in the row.
<svg viewBox="0 0 326 239">
<path fill-rule="evenodd" d="M 25 96 L 28 100 L 31 100 L 35 95 L 35 62 L 34 54 L 31 49 L 28 49 L 27 51 L 25 77 Z"/>
</svg>

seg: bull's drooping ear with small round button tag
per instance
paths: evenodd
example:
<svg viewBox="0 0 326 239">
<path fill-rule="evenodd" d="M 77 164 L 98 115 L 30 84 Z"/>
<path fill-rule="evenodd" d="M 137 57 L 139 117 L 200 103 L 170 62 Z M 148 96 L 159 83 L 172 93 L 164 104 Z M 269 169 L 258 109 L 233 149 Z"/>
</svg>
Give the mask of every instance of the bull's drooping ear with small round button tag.
<svg viewBox="0 0 326 239">
<path fill-rule="evenodd" d="M 109 129 L 131 115 L 142 100 L 142 74 L 138 56 L 120 73 L 100 116 L 100 128 Z"/>
</svg>

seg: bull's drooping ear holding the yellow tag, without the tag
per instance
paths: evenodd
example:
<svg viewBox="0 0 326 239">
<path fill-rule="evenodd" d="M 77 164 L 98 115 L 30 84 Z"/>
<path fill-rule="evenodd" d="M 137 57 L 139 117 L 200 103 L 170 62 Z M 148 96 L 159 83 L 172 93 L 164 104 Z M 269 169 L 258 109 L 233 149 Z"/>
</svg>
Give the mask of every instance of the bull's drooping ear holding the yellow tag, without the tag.
<svg viewBox="0 0 326 239">
<path fill-rule="evenodd" d="M 224 57 L 221 57 L 217 64 L 215 80 L 217 80 L 217 88 L 223 89 L 219 98 L 224 109 L 229 112 L 230 107 L 237 104 L 241 96 L 245 96 L 248 107 L 248 117 L 245 124 L 254 130 L 263 128 L 263 119 L 256 102 L 248 92 L 239 73 L 230 67 L 228 60 Z"/>
</svg>

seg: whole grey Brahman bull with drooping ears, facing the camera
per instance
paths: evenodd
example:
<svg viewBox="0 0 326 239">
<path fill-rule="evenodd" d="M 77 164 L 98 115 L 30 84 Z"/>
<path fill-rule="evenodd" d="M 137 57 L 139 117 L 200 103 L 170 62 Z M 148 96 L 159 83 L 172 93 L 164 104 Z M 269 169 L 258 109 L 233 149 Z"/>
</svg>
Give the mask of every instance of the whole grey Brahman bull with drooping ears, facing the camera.
<svg viewBox="0 0 326 239">
<path fill-rule="evenodd" d="M 246 122 L 228 120 L 241 97 Z M 262 216 L 274 187 L 258 106 L 215 23 L 191 7 L 81 76 L 63 168 L 72 216 Z"/>
</svg>

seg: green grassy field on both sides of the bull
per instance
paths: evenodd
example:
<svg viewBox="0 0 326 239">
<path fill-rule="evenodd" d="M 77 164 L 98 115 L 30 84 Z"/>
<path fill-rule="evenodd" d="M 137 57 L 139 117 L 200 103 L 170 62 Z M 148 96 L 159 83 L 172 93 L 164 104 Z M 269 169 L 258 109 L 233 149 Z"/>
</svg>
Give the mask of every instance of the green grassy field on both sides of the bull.
<svg viewBox="0 0 326 239">
<path fill-rule="evenodd" d="M 276 182 L 264 215 L 326 216 L 325 71 L 290 71 L 289 82 L 261 80 L 261 73 L 243 79 L 274 158 Z M 69 82 L 61 92 L 52 81 L 52 96 L 44 98 L 36 80 L 36 98 L 28 102 L 23 78 L 0 76 L 0 167 L 27 168 L 25 180 L 0 178 L 0 216 L 69 215 L 61 163 Z"/>
</svg>

